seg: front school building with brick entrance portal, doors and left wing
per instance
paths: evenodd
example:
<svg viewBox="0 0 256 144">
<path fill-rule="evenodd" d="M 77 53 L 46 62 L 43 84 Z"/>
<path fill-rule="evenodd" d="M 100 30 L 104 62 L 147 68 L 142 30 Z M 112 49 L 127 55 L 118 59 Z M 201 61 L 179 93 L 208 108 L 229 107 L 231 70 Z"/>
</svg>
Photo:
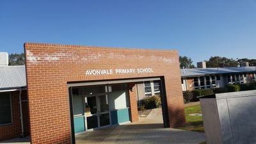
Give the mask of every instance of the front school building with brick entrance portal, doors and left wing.
<svg viewBox="0 0 256 144">
<path fill-rule="evenodd" d="M 0 140 L 76 143 L 138 121 L 145 95 L 161 96 L 164 127 L 185 122 L 177 51 L 26 43 L 24 52 L 26 67 L 0 66 Z"/>
</svg>

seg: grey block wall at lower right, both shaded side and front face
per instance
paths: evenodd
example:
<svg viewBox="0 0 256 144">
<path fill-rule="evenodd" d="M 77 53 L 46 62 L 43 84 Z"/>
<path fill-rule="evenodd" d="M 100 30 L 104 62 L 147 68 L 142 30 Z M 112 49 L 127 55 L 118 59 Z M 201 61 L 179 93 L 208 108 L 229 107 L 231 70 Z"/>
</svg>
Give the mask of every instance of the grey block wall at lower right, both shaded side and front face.
<svg viewBox="0 0 256 144">
<path fill-rule="evenodd" d="M 255 103 L 256 90 L 220 93 L 216 94 L 216 99 L 200 99 L 207 144 L 256 143 Z"/>
</svg>

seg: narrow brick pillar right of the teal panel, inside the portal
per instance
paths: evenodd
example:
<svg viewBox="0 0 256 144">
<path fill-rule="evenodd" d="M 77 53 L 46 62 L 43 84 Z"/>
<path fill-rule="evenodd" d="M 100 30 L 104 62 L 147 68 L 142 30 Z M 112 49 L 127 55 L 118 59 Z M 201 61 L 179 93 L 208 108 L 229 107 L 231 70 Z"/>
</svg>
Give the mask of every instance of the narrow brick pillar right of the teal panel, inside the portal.
<svg viewBox="0 0 256 144">
<path fill-rule="evenodd" d="M 129 100 L 130 100 L 130 109 L 131 109 L 131 122 L 138 122 L 138 108 L 137 108 L 137 90 L 135 83 L 129 83 Z M 132 91 L 131 91 L 132 90 Z"/>
</svg>

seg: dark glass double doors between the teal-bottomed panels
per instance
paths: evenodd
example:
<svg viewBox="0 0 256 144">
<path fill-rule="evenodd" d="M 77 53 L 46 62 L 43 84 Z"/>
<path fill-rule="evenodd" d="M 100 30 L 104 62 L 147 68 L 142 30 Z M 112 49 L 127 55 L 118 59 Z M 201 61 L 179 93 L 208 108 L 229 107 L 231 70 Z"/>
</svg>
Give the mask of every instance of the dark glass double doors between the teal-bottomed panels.
<svg viewBox="0 0 256 144">
<path fill-rule="evenodd" d="M 110 125 L 108 96 L 85 97 L 84 115 L 86 116 L 87 129 Z"/>
</svg>

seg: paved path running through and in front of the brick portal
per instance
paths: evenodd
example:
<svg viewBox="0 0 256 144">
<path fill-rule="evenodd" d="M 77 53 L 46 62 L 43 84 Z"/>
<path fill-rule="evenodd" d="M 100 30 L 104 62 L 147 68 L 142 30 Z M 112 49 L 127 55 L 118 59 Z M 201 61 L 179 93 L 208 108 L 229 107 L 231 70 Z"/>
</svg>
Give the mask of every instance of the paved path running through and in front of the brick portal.
<svg viewBox="0 0 256 144">
<path fill-rule="evenodd" d="M 147 118 L 139 122 L 118 125 L 99 131 L 89 131 L 76 136 L 76 143 L 91 144 L 185 144 L 205 141 L 200 132 L 182 131 L 179 129 L 163 128 L 161 108 L 152 109 Z"/>
</svg>

